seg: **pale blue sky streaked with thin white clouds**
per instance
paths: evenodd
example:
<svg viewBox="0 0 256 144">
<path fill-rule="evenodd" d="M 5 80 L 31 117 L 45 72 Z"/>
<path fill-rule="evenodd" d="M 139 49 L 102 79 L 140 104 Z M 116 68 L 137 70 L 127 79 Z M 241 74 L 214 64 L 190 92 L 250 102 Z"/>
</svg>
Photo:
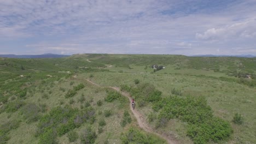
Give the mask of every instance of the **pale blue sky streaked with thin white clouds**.
<svg viewBox="0 0 256 144">
<path fill-rule="evenodd" d="M 256 0 L 0 0 L 0 54 L 256 55 Z"/>
</svg>

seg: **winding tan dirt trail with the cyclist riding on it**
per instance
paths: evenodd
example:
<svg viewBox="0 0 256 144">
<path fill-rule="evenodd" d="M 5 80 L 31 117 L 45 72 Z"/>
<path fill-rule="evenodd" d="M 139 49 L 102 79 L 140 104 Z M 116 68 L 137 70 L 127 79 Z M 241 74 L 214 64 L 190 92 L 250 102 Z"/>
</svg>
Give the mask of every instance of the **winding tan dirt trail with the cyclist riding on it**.
<svg viewBox="0 0 256 144">
<path fill-rule="evenodd" d="M 97 83 L 94 83 L 94 82 L 92 82 L 90 80 L 87 80 L 87 81 L 90 82 L 92 85 L 101 87 Z M 115 91 L 120 92 L 122 95 L 124 95 L 125 97 L 129 98 L 130 101 L 132 100 L 131 99 L 131 95 L 129 93 L 126 93 L 126 92 L 121 92 L 119 87 L 110 87 L 110 88 L 114 89 Z M 165 139 L 168 143 L 172 143 L 172 144 L 177 144 L 178 143 L 178 141 L 174 138 L 174 136 L 168 136 L 166 134 L 156 133 L 152 128 L 149 127 L 149 125 L 147 124 L 146 120 L 141 115 L 141 113 L 139 113 L 136 109 L 133 110 L 132 109 L 132 105 L 130 105 L 130 109 L 131 109 L 133 115 L 136 117 L 137 122 L 139 124 L 139 127 L 141 127 L 142 129 L 144 129 L 145 131 L 147 131 L 149 133 L 153 133 L 155 135 L 158 135 L 162 139 Z"/>
</svg>

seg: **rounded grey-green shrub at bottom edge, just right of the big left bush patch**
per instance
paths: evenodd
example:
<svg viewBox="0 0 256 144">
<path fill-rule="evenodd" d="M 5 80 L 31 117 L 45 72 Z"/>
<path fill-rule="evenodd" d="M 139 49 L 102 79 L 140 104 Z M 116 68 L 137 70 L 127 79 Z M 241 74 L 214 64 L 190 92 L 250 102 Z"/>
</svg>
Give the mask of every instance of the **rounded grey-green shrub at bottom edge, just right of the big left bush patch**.
<svg viewBox="0 0 256 144">
<path fill-rule="evenodd" d="M 92 131 L 91 127 L 87 127 L 80 137 L 82 144 L 92 144 L 95 142 L 97 135 L 95 131 Z"/>
</svg>

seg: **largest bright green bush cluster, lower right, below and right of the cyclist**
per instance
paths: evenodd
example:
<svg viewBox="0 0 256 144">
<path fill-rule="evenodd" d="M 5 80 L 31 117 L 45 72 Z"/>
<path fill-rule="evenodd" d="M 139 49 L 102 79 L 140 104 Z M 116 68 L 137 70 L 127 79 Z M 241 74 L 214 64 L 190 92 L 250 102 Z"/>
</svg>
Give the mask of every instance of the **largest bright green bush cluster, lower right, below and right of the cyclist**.
<svg viewBox="0 0 256 144">
<path fill-rule="evenodd" d="M 187 135 L 194 143 L 206 143 L 209 140 L 218 142 L 232 134 L 230 123 L 213 116 L 205 97 L 168 97 L 154 107 L 160 110 L 156 127 L 164 127 L 171 118 L 181 119 L 188 122 Z"/>
</svg>

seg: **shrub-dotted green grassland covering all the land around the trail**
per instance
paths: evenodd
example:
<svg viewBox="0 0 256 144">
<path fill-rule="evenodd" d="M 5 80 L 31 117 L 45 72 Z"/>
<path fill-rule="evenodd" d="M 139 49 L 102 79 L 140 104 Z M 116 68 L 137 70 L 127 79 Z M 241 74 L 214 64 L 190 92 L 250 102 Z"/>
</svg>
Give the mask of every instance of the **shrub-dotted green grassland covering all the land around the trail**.
<svg viewBox="0 0 256 144">
<path fill-rule="evenodd" d="M 148 125 L 179 143 L 256 143 L 255 62 L 180 55 L 0 58 L 0 143 L 163 143 L 138 127 L 129 100 L 109 86 L 124 87 Z M 156 64 L 166 68 L 154 72 Z M 188 101 L 193 105 L 186 107 Z M 241 124 L 234 122 L 236 113 Z M 211 128 L 230 134 L 200 137 L 194 128 L 207 129 L 219 118 L 220 126 Z"/>
</svg>

